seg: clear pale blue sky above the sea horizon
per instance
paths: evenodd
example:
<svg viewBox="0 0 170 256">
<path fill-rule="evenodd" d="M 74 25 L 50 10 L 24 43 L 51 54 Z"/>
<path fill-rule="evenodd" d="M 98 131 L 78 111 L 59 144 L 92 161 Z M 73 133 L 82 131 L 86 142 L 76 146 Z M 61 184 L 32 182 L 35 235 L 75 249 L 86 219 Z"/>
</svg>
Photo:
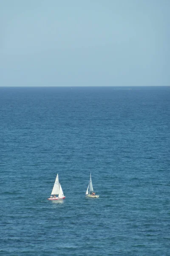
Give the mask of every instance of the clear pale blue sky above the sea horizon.
<svg viewBox="0 0 170 256">
<path fill-rule="evenodd" d="M 0 86 L 170 85 L 170 0 L 0 2 Z"/>
</svg>

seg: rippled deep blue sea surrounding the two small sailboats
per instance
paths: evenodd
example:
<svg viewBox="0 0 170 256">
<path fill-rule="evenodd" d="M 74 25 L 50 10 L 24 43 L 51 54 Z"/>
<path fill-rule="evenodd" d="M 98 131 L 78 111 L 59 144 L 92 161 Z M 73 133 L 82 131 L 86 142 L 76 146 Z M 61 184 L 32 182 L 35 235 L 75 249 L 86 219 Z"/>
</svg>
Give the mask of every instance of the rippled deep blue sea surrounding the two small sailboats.
<svg viewBox="0 0 170 256">
<path fill-rule="evenodd" d="M 0 143 L 0 256 L 170 255 L 170 87 L 0 87 Z"/>
</svg>

